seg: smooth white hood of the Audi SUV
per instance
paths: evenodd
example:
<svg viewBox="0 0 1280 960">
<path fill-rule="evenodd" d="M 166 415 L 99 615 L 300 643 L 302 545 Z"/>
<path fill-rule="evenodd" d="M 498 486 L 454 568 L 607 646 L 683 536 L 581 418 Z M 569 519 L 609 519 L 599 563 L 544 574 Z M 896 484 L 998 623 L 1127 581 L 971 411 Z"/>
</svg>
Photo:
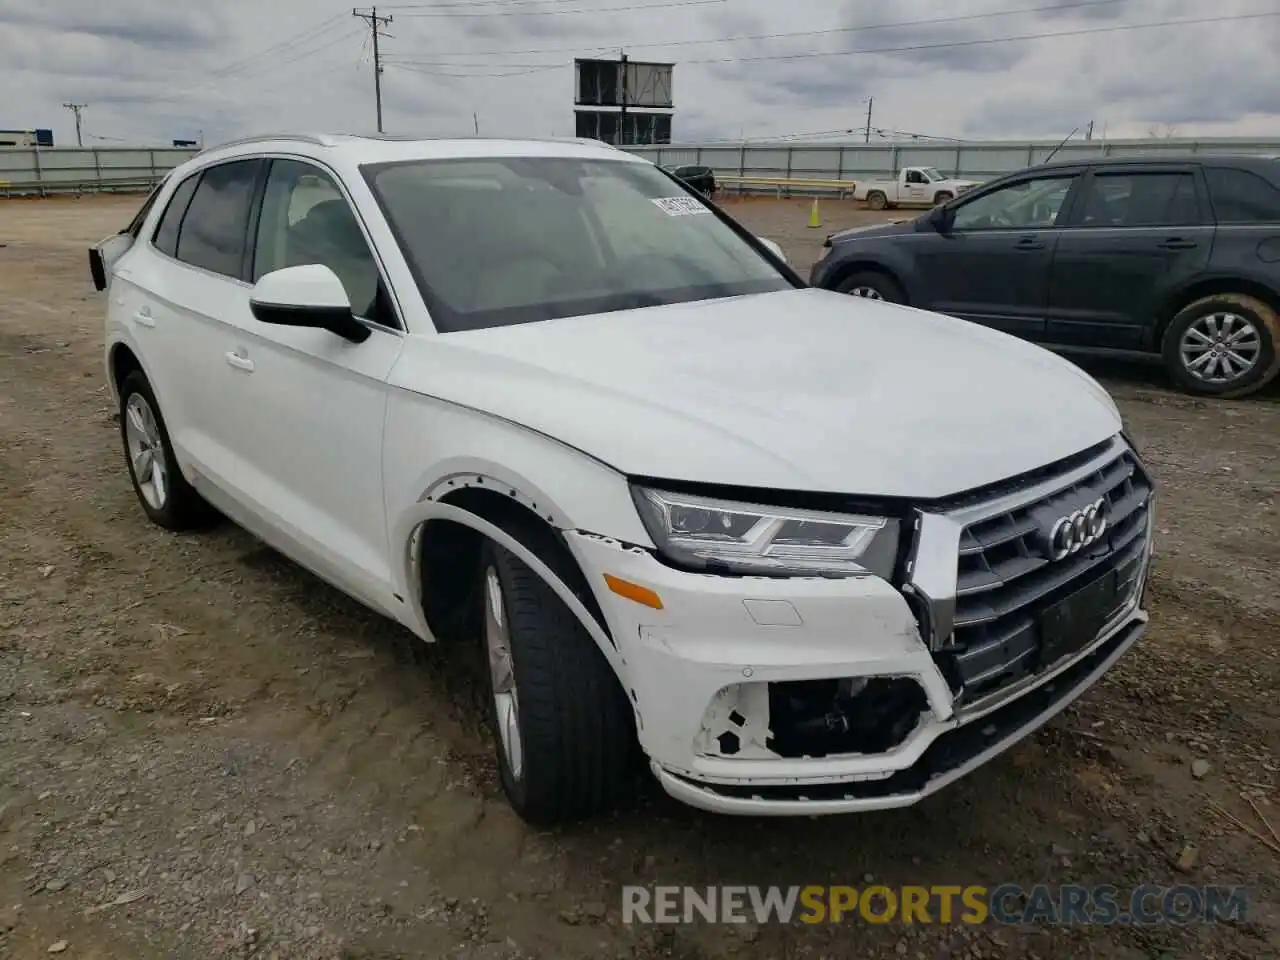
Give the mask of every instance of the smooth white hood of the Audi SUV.
<svg viewBox="0 0 1280 960">
<path fill-rule="evenodd" d="M 394 381 L 634 476 L 936 498 L 1120 430 L 1068 361 L 819 289 L 411 337 Z"/>
</svg>

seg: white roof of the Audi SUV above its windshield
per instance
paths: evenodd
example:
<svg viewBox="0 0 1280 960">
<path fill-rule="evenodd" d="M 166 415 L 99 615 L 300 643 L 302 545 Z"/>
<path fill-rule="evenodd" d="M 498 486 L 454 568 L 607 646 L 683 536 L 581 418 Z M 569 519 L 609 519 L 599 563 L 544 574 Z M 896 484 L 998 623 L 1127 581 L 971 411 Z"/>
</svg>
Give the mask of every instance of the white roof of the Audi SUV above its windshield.
<svg viewBox="0 0 1280 960">
<path fill-rule="evenodd" d="M 356 164 L 486 156 L 596 157 L 648 163 L 603 141 L 581 137 L 421 137 L 385 133 L 266 133 L 219 143 L 201 151 L 193 159 L 206 163 L 215 156 L 229 159 L 300 147 L 306 154 L 329 155 Z"/>
</svg>

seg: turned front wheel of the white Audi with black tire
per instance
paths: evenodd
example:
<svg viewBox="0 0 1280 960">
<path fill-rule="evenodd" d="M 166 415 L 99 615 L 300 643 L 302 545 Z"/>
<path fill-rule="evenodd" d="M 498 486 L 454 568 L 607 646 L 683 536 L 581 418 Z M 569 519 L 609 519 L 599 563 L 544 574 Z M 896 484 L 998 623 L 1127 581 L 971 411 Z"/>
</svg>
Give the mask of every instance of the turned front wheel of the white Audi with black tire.
<svg viewBox="0 0 1280 960">
<path fill-rule="evenodd" d="M 626 785 L 636 742 L 612 667 L 556 591 L 512 553 L 486 543 L 479 573 L 503 792 L 536 826 L 607 810 Z"/>
</svg>

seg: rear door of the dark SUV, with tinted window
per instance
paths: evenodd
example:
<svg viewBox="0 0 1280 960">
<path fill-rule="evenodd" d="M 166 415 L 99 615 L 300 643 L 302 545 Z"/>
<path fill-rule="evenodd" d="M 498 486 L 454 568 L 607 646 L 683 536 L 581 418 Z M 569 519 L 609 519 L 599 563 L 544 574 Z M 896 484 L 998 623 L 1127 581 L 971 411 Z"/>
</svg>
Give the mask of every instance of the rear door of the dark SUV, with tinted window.
<svg viewBox="0 0 1280 960">
<path fill-rule="evenodd" d="M 1092 169 L 1053 256 L 1046 339 L 1140 348 L 1170 293 L 1208 264 L 1213 234 L 1197 165 Z"/>
</svg>

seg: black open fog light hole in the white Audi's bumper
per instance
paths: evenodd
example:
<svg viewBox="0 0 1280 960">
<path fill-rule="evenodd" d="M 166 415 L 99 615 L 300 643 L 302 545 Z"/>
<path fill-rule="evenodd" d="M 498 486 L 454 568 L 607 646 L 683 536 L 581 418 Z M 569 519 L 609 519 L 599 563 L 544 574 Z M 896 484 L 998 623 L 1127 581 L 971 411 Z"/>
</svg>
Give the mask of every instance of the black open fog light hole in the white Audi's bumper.
<svg viewBox="0 0 1280 960">
<path fill-rule="evenodd" d="M 905 677 L 769 684 L 768 748 L 787 759 L 881 754 L 906 740 L 927 708 L 924 690 Z"/>
</svg>

